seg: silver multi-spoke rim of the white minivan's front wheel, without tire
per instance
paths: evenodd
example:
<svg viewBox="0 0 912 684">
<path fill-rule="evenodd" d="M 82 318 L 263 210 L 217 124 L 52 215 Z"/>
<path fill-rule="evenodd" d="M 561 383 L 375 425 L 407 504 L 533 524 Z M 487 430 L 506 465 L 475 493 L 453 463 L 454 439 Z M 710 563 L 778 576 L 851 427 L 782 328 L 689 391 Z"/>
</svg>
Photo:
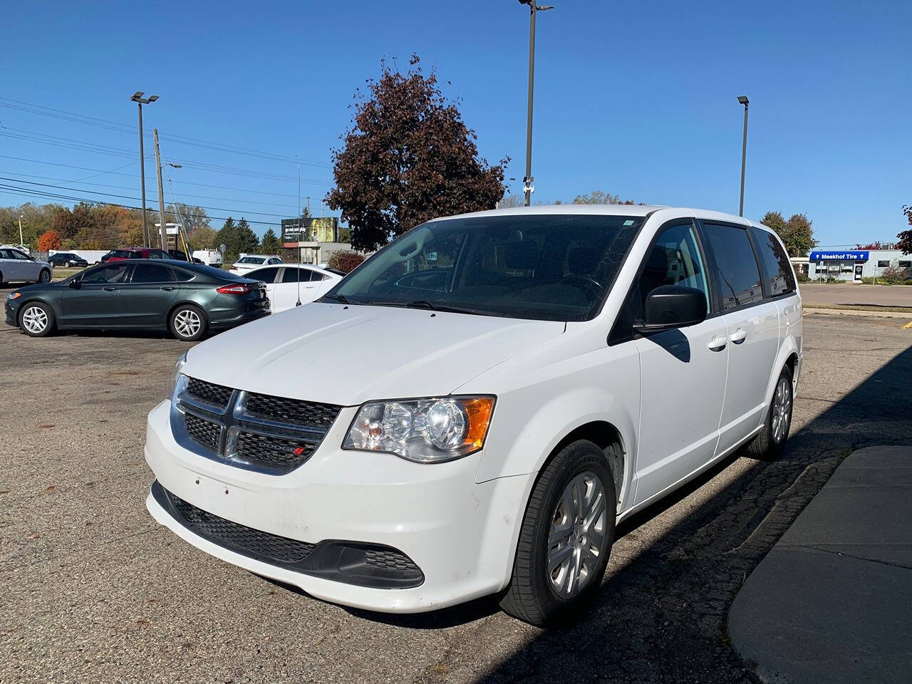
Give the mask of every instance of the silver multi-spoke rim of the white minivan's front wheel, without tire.
<svg viewBox="0 0 912 684">
<path fill-rule="evenodd" d="M 557 596 L 572 598 L 596 573 L 605 545 L 606 500 L 594 472 L 576 475 L 554 507 L 546 572 Z"/>
</svg>

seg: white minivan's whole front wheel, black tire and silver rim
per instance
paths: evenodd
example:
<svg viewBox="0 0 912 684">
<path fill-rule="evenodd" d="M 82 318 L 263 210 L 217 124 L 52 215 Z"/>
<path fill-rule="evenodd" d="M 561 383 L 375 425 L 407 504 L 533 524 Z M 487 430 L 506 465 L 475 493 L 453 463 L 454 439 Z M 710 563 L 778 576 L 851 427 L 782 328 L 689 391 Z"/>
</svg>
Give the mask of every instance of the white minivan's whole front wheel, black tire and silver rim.
<svg viewBox="0 0 912 684">
<path fill-rule="evenodd" d="M 579 616 L 605 575 L 616 512 L 605 452 L 587 440 L 558 451 L 529 497 L 503 610 L 537 627 Z"/>
</svg>

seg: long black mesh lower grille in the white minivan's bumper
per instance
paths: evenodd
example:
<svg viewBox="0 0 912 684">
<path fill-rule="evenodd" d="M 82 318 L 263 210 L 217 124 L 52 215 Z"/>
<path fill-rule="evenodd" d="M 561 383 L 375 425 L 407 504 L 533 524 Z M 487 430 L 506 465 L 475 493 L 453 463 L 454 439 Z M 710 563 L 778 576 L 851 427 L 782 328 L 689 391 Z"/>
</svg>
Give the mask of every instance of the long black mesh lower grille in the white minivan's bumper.
<svg viewBox="0 0 912 684">
<path fill-rule="evenodd" d="M 161 486 L 161 485 L 160 485 Z M 179 522 L 193 533 L 208 539 L 214 544 L 229 548 L 251 558 L 272 561 L 279 565 L 301 563 L 316 544 L 298 542 L 277 534 L 260 532 L 252 527 L 220 518 L 218 515 L 203 511 L 192 503 L 187 503 L 178 496 L 161 489 L 171 503 L 171 510 L 177 514 Z"/>
</svg>

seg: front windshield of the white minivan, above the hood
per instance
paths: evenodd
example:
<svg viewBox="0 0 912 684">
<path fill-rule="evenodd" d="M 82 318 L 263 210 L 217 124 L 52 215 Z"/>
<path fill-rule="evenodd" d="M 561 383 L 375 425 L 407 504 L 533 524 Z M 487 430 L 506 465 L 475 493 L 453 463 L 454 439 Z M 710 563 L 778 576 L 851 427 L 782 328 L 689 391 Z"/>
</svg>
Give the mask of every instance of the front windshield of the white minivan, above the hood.
<svg viewBox="0 0 912 684">
<path fill-rule="evenodd" d="M 588 320 L 644 220 L 505 214 L 431 221 L 374 254 L 320 301 Z"/>
</svg>

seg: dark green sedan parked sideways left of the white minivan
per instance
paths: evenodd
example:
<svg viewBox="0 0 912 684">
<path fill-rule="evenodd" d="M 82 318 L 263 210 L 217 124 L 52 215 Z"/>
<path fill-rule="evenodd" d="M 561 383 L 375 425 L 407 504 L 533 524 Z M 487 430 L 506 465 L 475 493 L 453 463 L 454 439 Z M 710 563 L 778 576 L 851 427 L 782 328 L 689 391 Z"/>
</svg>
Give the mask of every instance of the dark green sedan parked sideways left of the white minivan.
<svg viewBox="0 0 912 684">
<path fill-rule="evenodd" d="M 262 283 L 199 264 L 121 260 L 6 295 L 6 324 L 32 337 L 55 329 L 171 330 L 184 341 L 270 313 Z"/>
</svg>

